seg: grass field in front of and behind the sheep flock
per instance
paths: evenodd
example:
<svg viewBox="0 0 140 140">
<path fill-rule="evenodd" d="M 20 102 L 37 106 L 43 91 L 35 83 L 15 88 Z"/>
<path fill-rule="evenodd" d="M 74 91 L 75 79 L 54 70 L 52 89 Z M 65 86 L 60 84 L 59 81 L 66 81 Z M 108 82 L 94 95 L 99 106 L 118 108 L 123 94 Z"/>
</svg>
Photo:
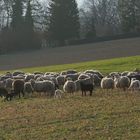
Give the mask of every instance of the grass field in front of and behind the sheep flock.
<svg viewBox="0 0 140 140">
<path fill-rule="evenodd" d="M 109 73 L 136 67 L 140 68 L 140 56 L 22 70 L 96 69 Z M 94 139 L 139 140 L 140 93 L 96 89 L 92 97 L 75 93 L 62 99 L 37 95 L 11 102 L 0 99 L 0 140 Z"/>
</svg>

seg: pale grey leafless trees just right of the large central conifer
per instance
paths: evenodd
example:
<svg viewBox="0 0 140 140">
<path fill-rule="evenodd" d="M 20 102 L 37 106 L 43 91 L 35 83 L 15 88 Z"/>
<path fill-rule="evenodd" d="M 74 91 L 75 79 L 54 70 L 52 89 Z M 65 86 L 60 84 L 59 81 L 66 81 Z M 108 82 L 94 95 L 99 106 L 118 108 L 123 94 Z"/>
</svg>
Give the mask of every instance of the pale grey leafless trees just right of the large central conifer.
<svg viewBox="0 0 140 140">
<path fill-rule="evenodd" d="M 106 36 L 118 33 L 119 15 L 117 10 L 117 1 L 118 0 L 85 1 L 84 6 L 86 7 L 83 7 L 83 9 L 86 13 L 85 19 L 88 19 L 88 30 L 91 30 L 90 28 L 95 26 L 97 36 Z"/>
</svg>

